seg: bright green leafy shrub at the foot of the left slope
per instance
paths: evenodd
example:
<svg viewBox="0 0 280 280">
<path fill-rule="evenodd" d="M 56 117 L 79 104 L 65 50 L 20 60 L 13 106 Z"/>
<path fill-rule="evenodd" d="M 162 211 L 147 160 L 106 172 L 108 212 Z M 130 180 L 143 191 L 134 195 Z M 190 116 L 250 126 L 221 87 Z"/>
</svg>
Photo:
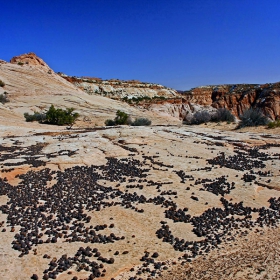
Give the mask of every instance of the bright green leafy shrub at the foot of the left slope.
<svg viewBox="0 0 280 280">
<path fill-rule="evenodd" d="M 55 125 L 73 125 L 76 119 L 79 117 L 78 113 L 73 113 L 74 108 L 56 109 L 51 105 L 50 109 L 46 113 L 46 123 Z"/>
</svg>

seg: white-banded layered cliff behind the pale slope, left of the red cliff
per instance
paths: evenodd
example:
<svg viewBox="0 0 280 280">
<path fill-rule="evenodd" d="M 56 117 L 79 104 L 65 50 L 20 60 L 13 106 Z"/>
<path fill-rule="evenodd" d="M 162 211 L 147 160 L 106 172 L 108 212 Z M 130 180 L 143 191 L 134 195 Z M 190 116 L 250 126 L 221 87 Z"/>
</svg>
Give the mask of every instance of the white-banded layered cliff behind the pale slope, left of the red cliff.
<svg viewBox="0 0 280 280">
<path fill-rule="evenodd" d="M 116 100 L 132 99 L 139 97 L 164 97 L 174 98 L 180 96 L 174 89 L 153 83 L 142 83 L 136 80 L 101 80 L 99 78 L 77 78 L 58 73 L 78 88 L 88 94 L 98 94 Z"/>
</svg>

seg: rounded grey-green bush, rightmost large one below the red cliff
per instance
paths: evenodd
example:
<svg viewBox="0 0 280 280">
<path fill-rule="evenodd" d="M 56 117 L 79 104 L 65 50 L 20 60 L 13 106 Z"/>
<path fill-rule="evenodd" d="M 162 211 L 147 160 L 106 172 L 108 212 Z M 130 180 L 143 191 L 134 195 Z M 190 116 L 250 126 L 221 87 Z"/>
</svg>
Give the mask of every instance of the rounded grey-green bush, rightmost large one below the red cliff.
<svg viewBox="0 0 280 280">
<path fill-rule="evenodd" d="M 238 128 L 248 127 L 248 126 L 259 126 L 267 125 L 269 119 L 262 113 L 260 109 L 250 108 L 240 116 L 240 122 L 237 126 Z"/>
</svg>

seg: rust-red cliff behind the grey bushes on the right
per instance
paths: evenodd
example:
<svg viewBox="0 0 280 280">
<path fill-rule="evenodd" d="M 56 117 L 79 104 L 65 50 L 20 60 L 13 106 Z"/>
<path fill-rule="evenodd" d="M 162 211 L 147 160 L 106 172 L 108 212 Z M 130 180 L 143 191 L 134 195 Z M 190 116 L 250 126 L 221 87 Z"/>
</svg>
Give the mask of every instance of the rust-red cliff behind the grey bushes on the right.
<svg viewBox="0 0 280 280">
<path fill-rule="evenodd" d="M 272 120 L 280 118 L 280 83 L 202 86 L 181 93 L 181 98 L 149 101 L 141 107 L 181 120 L 197 111 L 229 109 L 236 117 L 253 107 Z"/>
</svg>

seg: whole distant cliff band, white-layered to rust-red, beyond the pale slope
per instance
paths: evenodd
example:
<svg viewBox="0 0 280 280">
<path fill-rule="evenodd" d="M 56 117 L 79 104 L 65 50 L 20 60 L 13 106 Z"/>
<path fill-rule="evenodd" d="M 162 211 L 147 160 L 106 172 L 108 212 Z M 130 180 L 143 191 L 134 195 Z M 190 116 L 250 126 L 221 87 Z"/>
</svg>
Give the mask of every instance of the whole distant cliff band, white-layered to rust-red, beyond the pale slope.
<svg viewBox="0 0 280 280">
<path fill-rule="evenodd" d="M 196 111 L 213 111 L 217 108 L 227 108 L 238 117 L 246 109 L 257 107 L 272 120 L 280 117 L 280 83 L 202 86 L 179 93 L 159 84 L 135 80 L 101 80 L 70 77 L 61 73 L 60 75 L 88 94 L 126 102 L 145 97 L 148 100 L 144 98 L 140 102 L 129 103 L 181 120 Z"/>
</svg>

